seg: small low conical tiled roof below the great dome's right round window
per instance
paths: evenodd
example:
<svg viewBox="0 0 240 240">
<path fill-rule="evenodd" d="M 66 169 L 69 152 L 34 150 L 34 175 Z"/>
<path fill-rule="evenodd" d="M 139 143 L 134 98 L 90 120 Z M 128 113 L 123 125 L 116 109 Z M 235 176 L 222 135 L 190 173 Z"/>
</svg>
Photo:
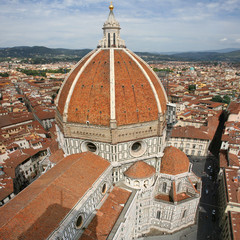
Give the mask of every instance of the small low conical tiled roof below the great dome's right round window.
<svg viewBox="0 0 240 240">
<path fill-rule="evenodd" d="M 153 166 L 150 166 L 143 161 L 139 161 L 129 167 L 128 170 L 124 172 L 124 175 L 133 179 L 140 179 L 149 178 L 155 173 L 156 170 Z"/>
</svg>

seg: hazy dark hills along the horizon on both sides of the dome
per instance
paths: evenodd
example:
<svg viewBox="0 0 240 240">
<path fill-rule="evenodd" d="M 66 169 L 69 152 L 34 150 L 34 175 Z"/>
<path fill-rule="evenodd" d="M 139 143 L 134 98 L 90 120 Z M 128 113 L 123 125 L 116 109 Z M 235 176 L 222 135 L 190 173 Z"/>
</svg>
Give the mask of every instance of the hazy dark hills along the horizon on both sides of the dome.
<svg viewBox="0 0 240 240">
<path fill-rule="evenodd" d="M 45 63 L 56 61 L 78 61 L 91 49 L 64 49 L 47 48 L 42 46 L 34 47 L 12 47 L 0 48 L 0 59 L 19 58 L 31 59 L 33 63 Z M 154 61 L 226 61 L 240 62 L 240 50 L 231 49 L 217 50 L 218 52 L 183 52 L 183 53 L 149 53 L 136 52 L 140 57 L 148 62 Z"/>
</svg>

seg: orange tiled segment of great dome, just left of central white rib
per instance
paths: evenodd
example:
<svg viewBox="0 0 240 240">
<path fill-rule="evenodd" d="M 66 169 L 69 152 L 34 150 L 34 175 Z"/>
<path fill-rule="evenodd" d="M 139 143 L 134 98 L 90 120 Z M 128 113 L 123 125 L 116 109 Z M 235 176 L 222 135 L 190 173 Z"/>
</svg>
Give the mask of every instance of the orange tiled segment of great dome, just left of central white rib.
<svg viewBox="0 0 240 240">
<path fill-rule="evenodd" d="M 109 126 L 109 55 L 109 50 L 102 49 L 79 76 L 69 103 L 68 122 Z"/>
</svg>

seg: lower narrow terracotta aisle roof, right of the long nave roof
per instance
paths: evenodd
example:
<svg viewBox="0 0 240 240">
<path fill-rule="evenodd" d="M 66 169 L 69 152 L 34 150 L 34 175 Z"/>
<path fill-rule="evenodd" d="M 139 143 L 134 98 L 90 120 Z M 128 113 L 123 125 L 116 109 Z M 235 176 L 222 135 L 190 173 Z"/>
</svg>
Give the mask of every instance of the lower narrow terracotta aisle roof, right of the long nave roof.
<svg viewBox="0 0 240 240">
<path fill-rule="evenodd" d="M 114 227 L 131 192 L 114 187 L 79 240 L 105 240 Z"/>
</svg>

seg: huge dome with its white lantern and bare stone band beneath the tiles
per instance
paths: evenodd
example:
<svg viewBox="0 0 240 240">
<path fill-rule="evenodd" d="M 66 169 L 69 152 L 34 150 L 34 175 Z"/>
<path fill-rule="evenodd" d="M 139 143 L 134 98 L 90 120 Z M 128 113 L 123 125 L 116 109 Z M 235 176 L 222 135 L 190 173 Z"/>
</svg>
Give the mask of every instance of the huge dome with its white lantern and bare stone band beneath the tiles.
<svg viewBox="0 0 240 240">
<path fill-rule="evenodd" d="M 77 63 L 59 91 L 60 131 L 112 144 L 162 135 L 167 97 L 160 80 L 125 47 L 112 9 L 103 32 L 98 48 Z"/>
</svg>

